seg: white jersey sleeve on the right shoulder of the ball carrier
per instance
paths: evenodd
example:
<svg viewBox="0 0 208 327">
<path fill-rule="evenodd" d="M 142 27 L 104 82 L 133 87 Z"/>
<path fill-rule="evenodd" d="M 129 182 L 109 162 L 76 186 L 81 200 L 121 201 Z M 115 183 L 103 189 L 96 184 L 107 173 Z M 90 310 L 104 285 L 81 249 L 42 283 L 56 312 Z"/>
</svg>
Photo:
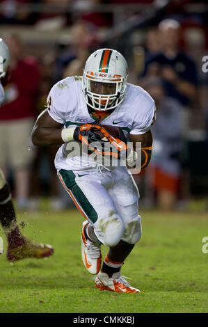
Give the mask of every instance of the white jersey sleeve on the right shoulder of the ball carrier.
<svg viewBox="0 0 208 327">
<path fill-rule="evenodd" d="M 130 134 L 145 134 L 156 120 L 156 107 L 152 97 L 146 93 L 140 103 L 141 107 L 136 110 Z"/>
</svg>

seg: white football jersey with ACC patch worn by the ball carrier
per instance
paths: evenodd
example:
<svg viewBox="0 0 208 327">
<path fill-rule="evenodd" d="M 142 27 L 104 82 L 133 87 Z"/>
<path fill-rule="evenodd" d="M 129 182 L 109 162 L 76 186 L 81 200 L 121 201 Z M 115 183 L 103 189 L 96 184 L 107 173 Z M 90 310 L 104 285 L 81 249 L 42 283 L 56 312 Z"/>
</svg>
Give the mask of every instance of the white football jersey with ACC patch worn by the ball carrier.
<svg viewBox="0 0 208 327">
<path fill-rule="evenodd" d="M 81 77 L 78 76 L 67 77 L 51 88 L 47 97 L 47 111 L 64 128 L 95 122 L 88 112 L 81 89 Z M 144 134 L 153 125 L 155 112 L 152 97 L 143 88 L 127 83 L 125 99 L 102 120 L 102 125 L 121 127 L 126 134 Z M 71 151 L 70 143 L 61 145 L 55 158 L 56 169 L 83 170 L 96 166 L 87 155 L 70 157 L 68 154 Z"/>
</svg>

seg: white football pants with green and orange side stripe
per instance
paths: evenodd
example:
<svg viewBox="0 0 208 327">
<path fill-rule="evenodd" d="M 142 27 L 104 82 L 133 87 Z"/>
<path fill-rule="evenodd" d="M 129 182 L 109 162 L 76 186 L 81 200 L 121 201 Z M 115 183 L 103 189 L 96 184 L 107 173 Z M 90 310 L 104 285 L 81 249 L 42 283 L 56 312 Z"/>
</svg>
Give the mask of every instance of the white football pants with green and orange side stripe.
<svg viewBox="0 0 208 327">
<path fill-rule="evenodd" d="M 58 177 L 102 244 L 113 247 L 121 239 L 129 244 L 139 241 L 139 193 L 126 167 L 61 169 Z"/>
</svg>

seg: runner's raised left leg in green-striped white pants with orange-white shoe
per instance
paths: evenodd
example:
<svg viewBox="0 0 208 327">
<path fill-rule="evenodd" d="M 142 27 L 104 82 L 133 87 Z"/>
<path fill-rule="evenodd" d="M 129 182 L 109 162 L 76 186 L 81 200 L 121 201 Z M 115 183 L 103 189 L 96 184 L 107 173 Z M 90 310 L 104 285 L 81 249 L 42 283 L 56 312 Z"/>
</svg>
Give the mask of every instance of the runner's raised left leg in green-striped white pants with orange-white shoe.
<svg viewBox="0 0 208 327">
<path fill-rule="evenodd" d="M 97 273 L 100 269 L 100 244 L 115 246 L 123 233 L 122 220 L 95 173 L 96 170 L 93 174 L 72 170 L 59 170 L 58 173 L 66 191 L 87 219 L 81 231 L 82 259 L 90 273 Z"/>
</svg>

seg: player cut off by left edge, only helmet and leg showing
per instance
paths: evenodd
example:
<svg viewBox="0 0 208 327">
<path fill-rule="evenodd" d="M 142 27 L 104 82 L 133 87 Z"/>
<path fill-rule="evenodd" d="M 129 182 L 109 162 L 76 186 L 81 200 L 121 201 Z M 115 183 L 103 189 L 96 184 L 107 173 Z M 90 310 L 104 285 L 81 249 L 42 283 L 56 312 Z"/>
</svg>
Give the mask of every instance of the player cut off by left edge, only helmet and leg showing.
<svg viewBox="0 0 208 327">
<path fill-rule="evenodd" d="M 9 49 L 0 38 L 0 106 L 5 97 L 1 80 L 4 81 L 7 78 L 9 61 Z M 8 240 L 7 259 L 9 261 L 16 261 L 26 257 L 41 258 L 52 255 L 54 249 L 51 246 L 48 244 L 35 244 L 21 234 L 11 198 L 10 188 L 0 169 L 0 222 Z"/>
</svg>

